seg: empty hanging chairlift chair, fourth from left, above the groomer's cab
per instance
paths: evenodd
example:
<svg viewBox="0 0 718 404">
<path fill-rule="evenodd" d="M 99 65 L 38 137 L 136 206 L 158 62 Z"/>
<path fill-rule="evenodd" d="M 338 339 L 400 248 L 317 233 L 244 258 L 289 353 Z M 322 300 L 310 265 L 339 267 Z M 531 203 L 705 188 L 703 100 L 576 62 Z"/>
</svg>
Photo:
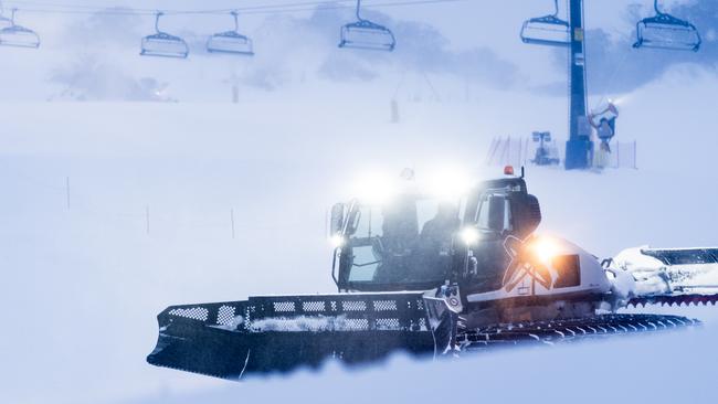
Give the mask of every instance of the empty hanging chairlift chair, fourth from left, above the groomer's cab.
<svg viewBox="0 0 718 404">
<path fill-rule="evenodd" d="M 393 51 L 397 39 L 388 28 L 365 20 L 360 15 L 361 0 L 357 0 L 357 21 L 341 28 L 339 47 Z"/>
</svg>

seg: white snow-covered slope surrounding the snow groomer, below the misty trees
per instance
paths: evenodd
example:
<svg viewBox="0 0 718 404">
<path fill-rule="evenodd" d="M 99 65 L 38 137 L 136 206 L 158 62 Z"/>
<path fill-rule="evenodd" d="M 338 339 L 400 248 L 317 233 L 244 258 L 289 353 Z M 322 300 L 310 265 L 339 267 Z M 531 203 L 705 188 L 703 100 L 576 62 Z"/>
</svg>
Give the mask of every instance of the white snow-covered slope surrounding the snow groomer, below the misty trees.
<svg viewBox="0 0 718 404">
<path fill-rule="evenodd" d="M 621 136 L 646 145 L 637 171 L 529 168 L 541 231 L 600 256 L 646 243 L 718 244 L 710 159 L 718 145 L 704 102 L 717 86 L 675 72 L 631 95 L 620 125 Z M 362 170 L 414 166 L 421 174 L 451 163 L 490 177 L 496 168 L 482 164 L 494 134 L 562 125 L 560 99 L 500 92 L 493 103 L 402 102 L 401 123 L 391 124 L 387 98 L 372 97 L 379 89 L 350 89 L 361 96 L 339 86 L 237 105 L 3 104 L 0 379 L 8 402 L 408 402 L 457 385 L 496 400 L 585 396 L 590 386 L 596 401 L 709 393 L 712 308 L 664 310 L 707 320 L 675 336 L 435 366 L 335 366 L 241 386 L 147 365 L 154 317 L 170 304 L 331 290 L 326 208 Z M 521 119 L 511 108 L 525 111 Z M 677 387 L 666 392 L 667 383 Z"/>
</svg>

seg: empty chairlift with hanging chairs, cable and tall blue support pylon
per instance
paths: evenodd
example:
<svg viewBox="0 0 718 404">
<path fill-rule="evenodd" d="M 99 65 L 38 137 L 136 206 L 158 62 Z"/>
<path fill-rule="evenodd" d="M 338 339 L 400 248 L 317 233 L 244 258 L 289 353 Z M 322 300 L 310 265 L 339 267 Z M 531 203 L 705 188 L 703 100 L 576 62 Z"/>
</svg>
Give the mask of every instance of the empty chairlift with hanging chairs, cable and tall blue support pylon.
<svg viewBox="0 0 718 404">
<path fill-rule="evenodd" d="M 419 0 L 414 3 L 442 2 L 450 0 Z M 550 0 L 532 0 L 536 2 L 546 2 L 550 7 Z M 615 118 L 608 119 L 608 123 L 595 124 L 591 118 L 595 114 L 590 114 L 587 107 L 588 82 L 587 66 L 590 61 L 587 59 L 585 50 L 585 30 L 584 30 L 584 11 L 583 2 L 590 0 L 553 0 L 553 8 L 547 14 L 529 18 L 520 26 L 519 38 L 526 44 L 545 45 L 552 47 L 566 49 L 568 52 L 568 82 L 569 82 L 569 125 L 568 141 L 566 143 L 566 157 L 563 166 L 567 170 L 589 169 L 593 167 L 595 148 L 592 138 L 594 131 L 601 130 L 600 148 L 598 152 L 610 153 L 608 142 L 615 135 Z M 593 0 L 598 1 L 598 0 Z M 650 0 L 644 0 L 650 1 Z M 298 6 L 306 3 L 285 4 L 292 12 Z M 393 6 L 406 6 L 397 3 Z M 376 4 L 377 7 L 381 4 Z M 386 6 L 386 4 L 384 4 Z M 659 0 L 653 0 L 654 15 L 642 19 L 636 23 L 636 39 L 633 47 L 671 50 L 671 51 L 693 51 L 697 52 L 701 45 L 701 38 L 698 29 L 690 22 L 678 17 L 672 15 L 665 11 L 664 4 Z M 0 3 L 0 46 L 19 46 L 38 49 L 40 46 L 40 35 L 30 28 L 20 25 L 17 22 L 17 15 L 21 12 L 24 15 L 32 12 L 52 13 L 61 12 L 59 10 L 38 9 L 34 6 L 28 9 L 13 8 L 10 15 L 7 15 Z M 340 6 L 344 7 L 344 6 Z M 361 0 L 357 0 L 351 6 L 355 11 L 356 21 L 347 22 L 344 25 L 337 24 L 339 29 L 338 46 L 346 50 L 357 51 L 384 51 L 392 52 L 397 47 L 397 38 L 394 32 L 389 28 L 362 17 Z M 255 8 L 256 9 L 256 8 Z M 260 7 L 270 11 L 266 13 L 282 11 L 279 6 Z M 101 9 L 97 9 L 101 10 Z M 103 9 L 104 10 L 104 9 Z M 252 56 L 254 55 L 254 43 L 252 39 L 240 32 L 239 15 L 240 10 L 196 10 L 196 11 L 151 11 L 151 10 L 130 10 L 139 15 L 154 17 L 155 32 L 142 38 L 140 42 L 140 52 L 142 56 L 160 56 L 170 59 L 187 59 L 190 54 L 188 42 L 177 33 L 169 33 L 160 29 L 160 20 L 172 15 L 183 14 L 215 14 L 219 17 L 229 15 L 233 19 L 234 26 L 229 31 L 215 31 L 210 33 L 205 41 L 205 49 L 209 54 L 224 54 Z M 77 11 L 81 12 L 81 11 Z M 88 13 L 86 8 L 82 12 Z M 113 12 L 105 11 L 107 15 Z M 256 13 L 256 10 L 254 10 Z M 23 24 L 25 22 L 23 21 Z"/>
</svg>

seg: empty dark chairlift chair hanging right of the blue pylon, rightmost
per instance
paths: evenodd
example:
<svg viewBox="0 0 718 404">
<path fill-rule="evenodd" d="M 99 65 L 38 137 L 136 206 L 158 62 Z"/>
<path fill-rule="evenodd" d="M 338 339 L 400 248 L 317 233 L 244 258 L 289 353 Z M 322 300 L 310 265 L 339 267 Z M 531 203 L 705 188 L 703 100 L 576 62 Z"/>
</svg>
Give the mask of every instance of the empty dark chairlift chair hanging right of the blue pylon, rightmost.
<svg viewBox="0 0 718 404">
<path fill-rule="evenodd" d="M 636 24 L 636 42 L 633 47 L 655 47 L 675 51 L 694 51 L 700 49 L 700 33 L 690 22 L 665 13 L 654 0 L 655 17 L 643 19 Z"/>
</svg>

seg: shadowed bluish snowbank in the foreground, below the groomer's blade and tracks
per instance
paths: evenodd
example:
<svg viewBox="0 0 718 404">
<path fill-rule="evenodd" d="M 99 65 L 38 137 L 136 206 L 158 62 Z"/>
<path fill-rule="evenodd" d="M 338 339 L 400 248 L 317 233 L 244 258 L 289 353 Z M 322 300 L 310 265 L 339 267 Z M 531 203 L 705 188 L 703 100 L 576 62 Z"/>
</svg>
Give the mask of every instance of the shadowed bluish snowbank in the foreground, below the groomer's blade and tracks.
<svg viewBox="0 0 718 404">
<path fill-rule="evenodd" d="M 347 371 L 331 363 L 318 373 L 255 380 L 193 393 L 168 390 L 135 404 L 312 402 L 360 404 L 426 401 L 672 403 L 715 400 L 709 363 L 715 328 L 662 337 L 621 338 L 562 348 L 535 348 L 440 362 L 394 358 L 386 368 Z"/>
</svg>

